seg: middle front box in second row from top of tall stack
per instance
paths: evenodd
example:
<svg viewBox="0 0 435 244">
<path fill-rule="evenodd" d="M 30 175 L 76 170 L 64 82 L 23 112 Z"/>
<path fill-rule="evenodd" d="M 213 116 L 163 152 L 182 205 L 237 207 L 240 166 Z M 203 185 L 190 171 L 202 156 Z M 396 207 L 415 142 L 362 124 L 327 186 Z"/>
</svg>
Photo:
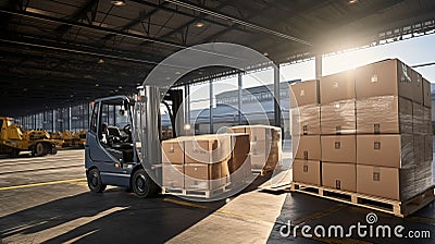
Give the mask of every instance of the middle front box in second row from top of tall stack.
<svg viewBox="0 0 435 244">
<path fill-rule="evenodd" d="M 322 105 L 320 122 L 322 135 L 355 134 L 355 99 Z"/>
</svg>

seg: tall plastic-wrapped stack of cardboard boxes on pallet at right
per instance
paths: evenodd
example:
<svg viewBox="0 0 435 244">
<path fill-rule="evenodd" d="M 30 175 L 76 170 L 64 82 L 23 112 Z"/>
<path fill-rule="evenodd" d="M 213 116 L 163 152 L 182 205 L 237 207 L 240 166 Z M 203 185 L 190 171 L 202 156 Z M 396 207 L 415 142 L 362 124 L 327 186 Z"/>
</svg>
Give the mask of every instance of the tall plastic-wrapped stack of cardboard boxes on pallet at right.
<svg viewBox="0 0 435 244">
<path fill-rule="evenodd" d="M 290 90 L 291 191 L 398 217 L 434 200 L 431 85 L 421 74 L 393 59 Z"/>
</svg>

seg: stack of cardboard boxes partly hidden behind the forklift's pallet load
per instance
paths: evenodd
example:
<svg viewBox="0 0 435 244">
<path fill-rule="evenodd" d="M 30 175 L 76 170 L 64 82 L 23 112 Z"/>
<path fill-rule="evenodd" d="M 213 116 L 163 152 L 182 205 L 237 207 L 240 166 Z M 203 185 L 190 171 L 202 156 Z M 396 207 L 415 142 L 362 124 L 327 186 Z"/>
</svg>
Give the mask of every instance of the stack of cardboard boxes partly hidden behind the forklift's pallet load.
<svg viewBox="0 0 435 244">
<path fill-rule="evenodd" d="M 250 162 L 253 170 L 273 171 L 282 159 L 281 127 L 270 125 L 238 125 L 232 133 L 247 133 L 250 141 Z"/>
</svg>

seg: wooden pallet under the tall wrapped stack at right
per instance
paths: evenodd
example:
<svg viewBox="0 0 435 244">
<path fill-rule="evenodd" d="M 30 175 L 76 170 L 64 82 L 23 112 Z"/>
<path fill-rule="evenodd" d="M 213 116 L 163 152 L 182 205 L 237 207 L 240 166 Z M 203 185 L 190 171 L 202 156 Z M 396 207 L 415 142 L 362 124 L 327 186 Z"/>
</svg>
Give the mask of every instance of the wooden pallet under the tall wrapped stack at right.
<svg viewBox="0 0 435 244">
<path fill-rule="evenodd" d="M 370 208 L 403 218 L 432 203 L 435 199 L 434 187 L 431 186 L 419 195 L 403 202 L 297 182 L 291 183 L 290 191 Z"/>
</svg>

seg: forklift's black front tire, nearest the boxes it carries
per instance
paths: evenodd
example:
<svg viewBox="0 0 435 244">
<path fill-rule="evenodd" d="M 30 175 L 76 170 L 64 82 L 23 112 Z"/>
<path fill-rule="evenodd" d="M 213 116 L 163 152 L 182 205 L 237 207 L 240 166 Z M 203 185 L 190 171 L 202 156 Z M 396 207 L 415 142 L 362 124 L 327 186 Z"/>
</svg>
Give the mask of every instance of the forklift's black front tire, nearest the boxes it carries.
<svg viewBox="0 0 435 244">
<path fill-rule="evenodd" d="M 144 169 L 137 170 L 132 178 L 132 190 L 136 196 L 146 198 L 157 194 L 157 185 Z"/>
</svg>

